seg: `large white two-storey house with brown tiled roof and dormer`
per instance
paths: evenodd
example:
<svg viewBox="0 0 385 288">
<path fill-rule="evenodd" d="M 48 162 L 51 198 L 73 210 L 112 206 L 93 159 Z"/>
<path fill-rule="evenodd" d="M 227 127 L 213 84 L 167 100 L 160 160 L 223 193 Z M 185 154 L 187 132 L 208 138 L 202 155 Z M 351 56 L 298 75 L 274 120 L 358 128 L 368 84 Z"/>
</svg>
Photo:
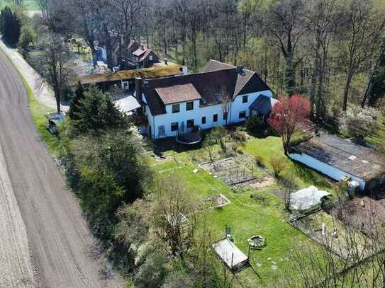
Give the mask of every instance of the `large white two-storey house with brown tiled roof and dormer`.
<svg viewBox="0 0 385 288">
<path fill-rule="evenodd" d="M 276 103 L 255 72 L 214 60 L 202 73 L 147 80 L 143 85 L 141 81 L 137 79 L 136 95 L 142 95 L 138 101 L 144 105 L 153 139 L 174 137 L 194 126 L 208 129 L 242 122 L 250 115 L 264 116 L 270 112 L 266 103 Z M 256 104 L 261 97 L 262 110 Z"/>
</svg>

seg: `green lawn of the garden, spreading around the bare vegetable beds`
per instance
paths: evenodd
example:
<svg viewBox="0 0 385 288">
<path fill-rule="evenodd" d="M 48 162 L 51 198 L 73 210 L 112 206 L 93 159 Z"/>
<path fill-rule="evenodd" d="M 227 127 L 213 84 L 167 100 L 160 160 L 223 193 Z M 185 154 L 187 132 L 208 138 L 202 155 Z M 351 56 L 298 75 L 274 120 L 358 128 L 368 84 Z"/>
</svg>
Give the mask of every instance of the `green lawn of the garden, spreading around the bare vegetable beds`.
<svg viewBox="0 0 385 288">
<path fill-rule="evenodd" d="M 269 156 L 272 154 L 280 154 L 284 157 L 279 137 L 264 139 L 251 137 L 243 149 L 250 156 L 261 156 L 267 167 L 269 167 Z M 270 192 L 278 189 L 277 184 L 261 190 L 252 188 L 232 190 L 206 171 L 199 169 L 199 172 L 194 174 L 192 171 L 198 166 L 191 159 L 196 159 L 199 154 L 204 153 L 203 149 L 183 152 L 167 151 L 164 153 L 167 160 L 154 161 L 152 167 L 159 173 L 172 175 L 182 181 L 184 187 L 191 191 L 196 200 L 219 192 L 225 195 L 231 204 L 221 209 L 213 209 L 206 214 L 207 223 L 211 226 L 214 238 L 223 238 L 225 227 L 230 226 L 235 245 L 246 255 L 247 238 L 253 235 L 266 238 L 267 246 L 262 250 L 252 250 L 250 257 L 261 279 L 250 269 L 240 272 L 239 276 L 246 287 L 274 287 L 279 277 L 282 277 L 282 270 L 290 270 L 291 248 L 296 243 L 309 241 L 308 238 L 286 221 L 288 215 L 284 211 L 283 202 Z M 325 185 L 333 189 L 322 175 L 306 168 L 299 168 L 289 160 L 287 162 L 288 165 L 296 168 L 297 185 L 300 188 L 318 183 L 318 187 Z M 265 201 L 257 202 L 253 199 L 252 196 L 256 193 Z"/>
</svg>

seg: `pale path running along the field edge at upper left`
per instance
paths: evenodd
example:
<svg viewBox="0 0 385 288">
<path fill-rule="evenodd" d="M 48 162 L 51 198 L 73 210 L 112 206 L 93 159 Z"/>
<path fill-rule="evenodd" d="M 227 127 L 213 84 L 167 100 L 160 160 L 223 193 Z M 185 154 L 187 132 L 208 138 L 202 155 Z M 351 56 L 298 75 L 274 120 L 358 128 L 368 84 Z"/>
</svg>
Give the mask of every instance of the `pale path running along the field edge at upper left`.
<svg viewBox="0 0 385 288">
<path fill-rule="evenodd" d="M 16 49 L 10 48 L 0 40 L 0 48 L 12 60 L 16 69 L 20 72 L 24 79 L 28 82 L 30 88 L 33 89 L 36 99 L 43 105 L 56 110 L 56 100 L 52 88 L 43 81 L 42 77 L 30 67 L 28 62 L 21 56 Z M 62 103 L 61 110 L 67 112 L 69 105 Z"/>
</svg>

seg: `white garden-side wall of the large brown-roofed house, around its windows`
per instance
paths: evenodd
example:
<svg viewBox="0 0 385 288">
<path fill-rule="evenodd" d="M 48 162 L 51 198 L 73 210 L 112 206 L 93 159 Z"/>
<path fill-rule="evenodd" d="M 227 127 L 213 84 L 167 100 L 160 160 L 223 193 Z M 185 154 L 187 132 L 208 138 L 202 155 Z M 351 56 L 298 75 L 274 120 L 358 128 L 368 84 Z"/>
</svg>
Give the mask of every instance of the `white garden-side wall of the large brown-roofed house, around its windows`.
<svg viewBox="0 0 385 288">
<path fill-rule="evenodd" d="M 247 103 L 242 103 L 242 96 L 237 96 L 233 103 L 231 104 L 230 113 L 228 115 L 228 123 L 237 123 L 245 121 L 244 119 L 239 118 L 239 113 L 241 111 L 246 111 L 246 117 L 250 115 L 250 105 L 263 94 L 264 96 L 272 97 L 272 91 L 262 91 L 258 93 L 245 94 L 248 95 Z M 182 127 L 182 122 L 184 122 L 184 131 L 187 129 L 187 120 L 194 119 L 194 125 L 198 125 L 201 129 L 209 129 L 216 127 L 218 125 L 226 125 L 226 120 L 223 120 L 223 108 L 221 104 L 218 105 L 208 105 L 208 106 L 199 106 L 200 101 L 194 100 L 194 110 L 186 110 L 186 102 L 179 103 L 179 113 L 172 113 L 172 105 L 166 105 L 167 114 L 157 115 L 152 117 L 150 109 L 147 107 L 147 119 L 148 123 L 151 126 L 152 138 L 160 138 L 158 135 L 159 126 L 164 125 L 164 137 L 174 137 L 177 135 L 177 131 L 171 131 L 171 123 L 178 122 L 179 129 Z M 213 115 L 218 114 L 218 121 L 213 122 Z M 202 117 L 206 117 L 206 124 L 202 124 Z"/>
</svg>

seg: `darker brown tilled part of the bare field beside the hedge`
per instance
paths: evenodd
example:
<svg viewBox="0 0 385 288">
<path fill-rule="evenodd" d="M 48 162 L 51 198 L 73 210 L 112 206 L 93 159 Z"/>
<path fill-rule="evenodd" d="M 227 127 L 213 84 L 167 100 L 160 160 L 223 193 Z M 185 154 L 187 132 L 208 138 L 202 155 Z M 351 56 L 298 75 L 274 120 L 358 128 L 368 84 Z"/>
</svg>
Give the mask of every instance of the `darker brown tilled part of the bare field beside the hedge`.
<svg viewBox="0 0 385 288">
<path fill-rule="evenodd" d="M 1 51 L 0 146 L 6 167 L 3 174 L 9 175 L 9 188 L 26 227 L 33 270 L 28 286 L 124 287 L 97 248 L 79 203 L 40 139 L 23 83 Z M 0 243 L 0 249 L 4 247 Z M 1 281 L 0 287 L 5 287 Z"/>
</svg>

